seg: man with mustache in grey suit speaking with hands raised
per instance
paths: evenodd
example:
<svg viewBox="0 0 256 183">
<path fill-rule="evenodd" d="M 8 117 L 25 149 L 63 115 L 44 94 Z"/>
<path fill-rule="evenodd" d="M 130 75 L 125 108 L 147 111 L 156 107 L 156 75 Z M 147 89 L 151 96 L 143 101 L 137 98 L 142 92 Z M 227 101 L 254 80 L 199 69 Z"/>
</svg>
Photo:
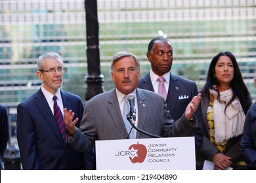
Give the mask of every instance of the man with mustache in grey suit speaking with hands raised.
<svg viewBox="0 0 256 183">
<path fill-rule="evenodd" d="M 73 119 L 74 112 L 64 108 L 68 142 L 74 150 L 89 151 L 97 140 L 185 137 L 190 136 L 196 129 L 194 112 L 200 104 L 201 94 L 192 99 L 182 117 L 174 123 L 161 95 L 137 88 L 140 63 L 134 54 L 131 52 L 114 54 L 111 61 L 111 75 L 116 88 L 100 93 L 87 101 L 79 129 L 75 127 L 79 119 Z M 130 97 L 129 103 L 134 106 L 129 107 L 130 112 L 128 111 L 129 114 L 132 113 L 131 121 L 134 126 L 122 117 L 123 113 L 124 116 L 127 114 L 123 112 L 127 104 L 125 99 L 127 95 L 135 96 Z"/>
</svg>

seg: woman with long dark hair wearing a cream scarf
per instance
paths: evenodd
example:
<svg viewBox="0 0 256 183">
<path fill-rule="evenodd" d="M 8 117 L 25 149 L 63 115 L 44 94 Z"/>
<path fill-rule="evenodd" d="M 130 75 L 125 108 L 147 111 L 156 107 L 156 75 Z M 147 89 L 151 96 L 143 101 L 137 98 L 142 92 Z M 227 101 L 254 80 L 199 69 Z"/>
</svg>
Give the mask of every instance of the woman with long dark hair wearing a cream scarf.
<svg viewBox="0 0 256 183">
<path fill-rule="evenodd" d="M 240 142 L 252 102 L 231 52 L 220 52 L 212 59 L 201 93 L 204 137 L 198 169 L 205 160 L 213 162 L 213 169 L 245 169 Z"/>
</svg>

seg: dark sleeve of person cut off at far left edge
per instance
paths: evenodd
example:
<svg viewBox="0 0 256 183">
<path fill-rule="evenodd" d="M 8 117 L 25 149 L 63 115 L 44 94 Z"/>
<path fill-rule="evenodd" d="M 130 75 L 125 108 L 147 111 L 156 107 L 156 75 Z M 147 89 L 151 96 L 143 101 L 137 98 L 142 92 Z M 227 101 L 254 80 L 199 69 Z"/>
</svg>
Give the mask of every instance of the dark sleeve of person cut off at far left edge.
<svg viewBox="0 0 256 183">
<path fill-rule="evenodd" d="M 0 166 L 3 169 L 2 159 L 7 148 L 7 142 L 9 141 L 9 116 L 4 105 L 0 105 L 0 123 Z"/>
</svg>

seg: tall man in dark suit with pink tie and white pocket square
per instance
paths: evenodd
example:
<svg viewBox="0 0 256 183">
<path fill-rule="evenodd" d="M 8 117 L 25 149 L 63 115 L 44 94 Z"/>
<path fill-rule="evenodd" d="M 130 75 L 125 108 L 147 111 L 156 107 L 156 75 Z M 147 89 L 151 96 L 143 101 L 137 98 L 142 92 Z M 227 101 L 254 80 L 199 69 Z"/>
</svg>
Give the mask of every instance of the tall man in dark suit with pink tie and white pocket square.
<svg viewBox="0 0 256 183">
<path fill-rule="evenodd" d="M 181 118 L 191 99 L 198 95 L 196 83 L 170 73 L 173 63 L 173 45 L 168 39 L 164 37 L 152 39 L 148 44 L 146 56 L 150 61 L 151 69 L 146 76 L 140 78 L 138 88 L 163 95 L 171 117 L 176 121 Z M 200 106 L 195 116 L 198 119 L 198 127 L 191 136 L 195 137 L 196 152 L 198 152 L 203 141 L 203 118 Z"/>
</svg>

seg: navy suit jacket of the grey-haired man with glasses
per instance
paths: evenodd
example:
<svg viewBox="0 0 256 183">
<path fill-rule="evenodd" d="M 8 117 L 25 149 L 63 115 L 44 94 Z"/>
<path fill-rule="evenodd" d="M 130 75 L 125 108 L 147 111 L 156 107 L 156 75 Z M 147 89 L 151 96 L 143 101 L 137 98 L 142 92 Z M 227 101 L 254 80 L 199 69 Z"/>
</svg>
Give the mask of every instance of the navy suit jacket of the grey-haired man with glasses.
<svg viewBox="0 0 256 183">
<path fill-rule="evenodd" d="M 81 98 L 63 90 L 60 93 L 64 108 L 72 109 L 74 118 L 81 119 Z M 80 121 L 77 127 L 79 124 Z M 17 139 L 23 169 L 87 168 L 83 161 L 84 154 L 74 152 L 68 143 L 64 144 L 41 89 L 17 107 Z"/>
</svg>

